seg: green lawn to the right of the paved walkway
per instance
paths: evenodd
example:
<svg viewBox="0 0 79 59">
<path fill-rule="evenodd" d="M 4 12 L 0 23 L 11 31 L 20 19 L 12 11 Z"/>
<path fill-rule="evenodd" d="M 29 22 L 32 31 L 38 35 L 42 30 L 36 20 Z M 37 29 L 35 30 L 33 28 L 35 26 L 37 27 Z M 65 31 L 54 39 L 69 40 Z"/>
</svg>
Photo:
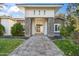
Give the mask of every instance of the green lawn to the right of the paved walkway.
<svg viewBox="0 0 79 59">
<path fill-rule="evenodd" d="M 72 40 L 54 40 L 53 41 L 67 56 L 79 56 L 79 44 Z"/>
</svg>

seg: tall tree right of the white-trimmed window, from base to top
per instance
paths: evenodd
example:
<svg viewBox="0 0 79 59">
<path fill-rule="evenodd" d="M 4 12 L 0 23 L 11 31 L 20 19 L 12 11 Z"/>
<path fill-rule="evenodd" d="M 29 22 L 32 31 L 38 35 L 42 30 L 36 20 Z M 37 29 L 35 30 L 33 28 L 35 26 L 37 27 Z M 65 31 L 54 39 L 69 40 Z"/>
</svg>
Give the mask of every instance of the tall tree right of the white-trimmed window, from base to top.
<svg viewBox="0 0 79 59">
<path fill-rule="evenodd" d="M 64 37 L 74 37 L 74 32 L 76 29 L 76 16 L 74 15 L 74 10 L 72 8 L 75 4 L 69 4 L 67 8 L 67 16 L 66 16 L 66 23 L 61 27 L 60 34 Z"/>
</svg>

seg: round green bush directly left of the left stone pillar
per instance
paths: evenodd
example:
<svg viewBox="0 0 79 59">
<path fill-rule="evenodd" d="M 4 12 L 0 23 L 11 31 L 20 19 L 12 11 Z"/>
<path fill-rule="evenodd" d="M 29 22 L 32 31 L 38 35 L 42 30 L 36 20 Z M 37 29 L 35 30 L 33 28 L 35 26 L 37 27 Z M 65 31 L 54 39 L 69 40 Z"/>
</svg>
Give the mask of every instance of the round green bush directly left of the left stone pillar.
<svg viewBox="0 0 79 59">
<path fill-rule="evenodd" d="M 20 23 L 16 23 L 11 28 L 11 33 L 13 36 L 24 36 L 24 28 Z"/>
</svg>

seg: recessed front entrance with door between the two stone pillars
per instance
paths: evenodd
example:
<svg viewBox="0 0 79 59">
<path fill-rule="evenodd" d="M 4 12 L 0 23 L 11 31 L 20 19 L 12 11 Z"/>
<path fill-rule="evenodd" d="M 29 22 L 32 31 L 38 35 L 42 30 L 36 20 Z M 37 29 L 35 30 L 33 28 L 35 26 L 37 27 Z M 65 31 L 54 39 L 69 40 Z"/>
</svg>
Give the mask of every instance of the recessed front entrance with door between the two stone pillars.
<svg viewBox="0 0 79 59">
<path fill-rule="evenodd" d="M 35 18 L 32 20 L 32 35 L 47 35 L 47 20 L 45 18 Z"/>
</svg>

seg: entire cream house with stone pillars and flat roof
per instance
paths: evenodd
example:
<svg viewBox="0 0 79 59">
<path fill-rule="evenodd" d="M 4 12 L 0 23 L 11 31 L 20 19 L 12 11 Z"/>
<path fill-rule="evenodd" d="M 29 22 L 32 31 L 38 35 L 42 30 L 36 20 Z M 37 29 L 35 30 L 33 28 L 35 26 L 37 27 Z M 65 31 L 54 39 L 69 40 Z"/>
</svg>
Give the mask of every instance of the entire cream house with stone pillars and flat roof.
<svg viewBox="0 0 79 59">
<path fill-rule="evenodd" d="M 63 4 L 20 3 L 16 6 L 23 13 L 23 16 L 20 18 L 1 18 L 1 24 L 6 28 L 5 35 L 11 35 L 11 27 L 16 22 L 24 25 L 26 37 L 38 34 L 53 37 L 60 34 L 59 27 L 62 25 L 62 20 L 55 19 L 55 15 Z"/>
</svg>

